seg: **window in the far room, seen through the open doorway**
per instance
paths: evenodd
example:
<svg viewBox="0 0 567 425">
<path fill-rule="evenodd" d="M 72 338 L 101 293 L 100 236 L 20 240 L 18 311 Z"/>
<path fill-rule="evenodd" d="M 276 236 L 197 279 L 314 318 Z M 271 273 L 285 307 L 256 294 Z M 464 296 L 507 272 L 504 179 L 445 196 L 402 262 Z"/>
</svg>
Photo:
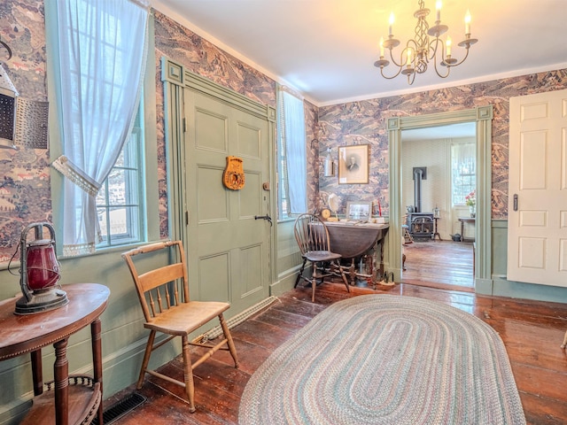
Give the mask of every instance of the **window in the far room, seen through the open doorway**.
<svg viewBox="0 0 567 425">
<path fill-rule="evenodd" d="M 451 145 L 452 202 L 465 205 L 467 197 L 477 187 L 477 151 L 475 143 Z"/>
</svg>

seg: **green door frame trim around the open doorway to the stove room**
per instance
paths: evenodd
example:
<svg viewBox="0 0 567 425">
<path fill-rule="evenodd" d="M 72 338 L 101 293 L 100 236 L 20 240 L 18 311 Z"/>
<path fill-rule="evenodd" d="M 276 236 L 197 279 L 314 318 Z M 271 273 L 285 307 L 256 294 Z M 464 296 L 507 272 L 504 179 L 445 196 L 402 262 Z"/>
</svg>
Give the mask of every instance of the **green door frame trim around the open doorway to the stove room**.
<svg viewBox="0 0 567 425">
<path fill-rule="evenodd" d="M 387 253 L 390 271 L 401 279 L 401 132 L 462 122 L 477 125 L 477 222 L 475 226 L 475 288 L 492 282 L 492 120 L 493 105 L 387 120 L 390 160 L 390 230 Z"/>
</svg>

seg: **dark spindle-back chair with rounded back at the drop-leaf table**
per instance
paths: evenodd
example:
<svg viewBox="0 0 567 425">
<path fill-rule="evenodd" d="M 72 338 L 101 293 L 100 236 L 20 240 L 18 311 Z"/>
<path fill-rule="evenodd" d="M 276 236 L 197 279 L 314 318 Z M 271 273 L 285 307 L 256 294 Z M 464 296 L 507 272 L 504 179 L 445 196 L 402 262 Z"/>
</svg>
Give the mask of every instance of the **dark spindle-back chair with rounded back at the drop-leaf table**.
<svg viewBox="0 0 567 425">
<path fill-rule="evenodd" d="M 303 257 L 303 265 L 299 270 L 298 277 L 295 281 L 295 287 L 298 286 L 299 280 L 304 279 L 307 282 L 311 282 L 311 287 L 313 289 L 311 295 L 311 301 L 315 301 L 315 286 L 317 286 L 317 280 L 323 279 L 330 275 L 340 275 L 345 282 L 346 291 L 350 292 L 350 287 L 346 281 L 346 275 L 343 268 L 340 267 L 340 259 L 342 258 L 340 254 L 337 254 L 330 249 L 329 241 L 329 230 L 325 223 L 313 214 L 301 214 L 295 220 L 295 225 L 293 228 L 295 234 L 295 240 L 299 245 L 299 251 L 301 251 L 301 257 Z M 307 261 L 311 262 L 313 267 L 313 273 L 311 278 L 307 278 L 303 275 L 303 270 L 305 269 Z M 330 263 L 330 271 L 325 271 L 325 263 Z"/>
</svg>

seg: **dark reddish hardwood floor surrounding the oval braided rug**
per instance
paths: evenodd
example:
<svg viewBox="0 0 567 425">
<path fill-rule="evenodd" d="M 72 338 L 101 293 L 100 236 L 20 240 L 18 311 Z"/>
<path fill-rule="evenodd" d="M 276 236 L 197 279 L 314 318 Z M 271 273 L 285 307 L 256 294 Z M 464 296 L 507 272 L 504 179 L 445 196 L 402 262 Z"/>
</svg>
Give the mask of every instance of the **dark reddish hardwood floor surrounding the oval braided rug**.
<svg viewBox="0 0 567 425">
<path fill-rule="evenodd" d="M 267 309 L 233 328 L 240 367 L 231 366 L 227 352 L 217 352 L 195 369 L 196 413 L 189 413 L 181 387 L 146 375 L 144 387 L 138 392 L 147 401 L 114 423 L 237 424 L 238 406 L 245 385 L 270 353 L 327 306 L 368 293 L 436 300 L 485 321 L 499 332 L 506 345 L 528 424 L 567 423 L 567 391 L 564 390 L 567 356 L 559 347 L 567 329 L 567 304 L 485 297 L 407 283 L 376 291 L 352 287 L 348 294 L 339 282 L 323 283 L 318 287 L 315 303 L 311 302 L 310 289 L 291 290 Z M 179 358 L 162 368 L 183 379 Z M 132 391 L 136 391 L 135 386 L 106 400 L 105 406 Z"/>
</svg>

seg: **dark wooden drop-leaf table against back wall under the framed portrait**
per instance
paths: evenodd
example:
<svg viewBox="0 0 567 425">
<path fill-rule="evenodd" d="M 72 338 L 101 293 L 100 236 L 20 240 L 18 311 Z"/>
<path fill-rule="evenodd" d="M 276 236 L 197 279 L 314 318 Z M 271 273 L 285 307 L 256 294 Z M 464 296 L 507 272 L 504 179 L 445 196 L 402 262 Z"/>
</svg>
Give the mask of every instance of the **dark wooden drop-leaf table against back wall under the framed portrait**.
<svg viewBox="0 0 567 425">
<path fill-rule="evenodd" d="M 343 256 L 343 259 L 352 259 L 349 267 L 351 284 L 357 277 L 371 278 L 375 284 L 377 273 L 384 274 L 384 237 L 390 228 L 389 224 L 354 223 L 348 221 L 325 222 L 329 229 L 330 248 Z M 356 271 L 354 260 L 380 244 L 378 267 L 373 267 L 372 274 Z M 375 251 L 378 255 L 378 251 Z M 374 265 L 373 265 L 374 266 Z"/>
</svg>

